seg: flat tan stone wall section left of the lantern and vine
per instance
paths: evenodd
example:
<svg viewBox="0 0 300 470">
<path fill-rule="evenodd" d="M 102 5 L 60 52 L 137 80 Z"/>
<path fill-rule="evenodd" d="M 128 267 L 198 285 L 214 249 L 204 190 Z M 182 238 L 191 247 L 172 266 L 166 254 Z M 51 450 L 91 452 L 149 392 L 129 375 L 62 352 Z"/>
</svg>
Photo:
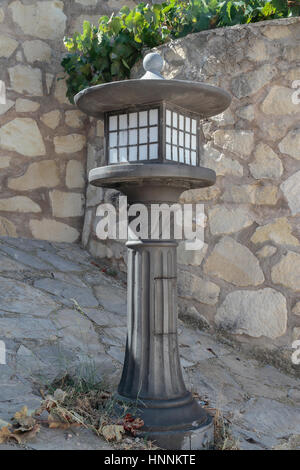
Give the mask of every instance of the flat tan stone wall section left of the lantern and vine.
<svg viewBox="0 0 300 470">
<path fill-rule="evenodd" d="M 66 98 L 63 37 L 123 4 L 1 0 L 0 236 L 80 240 L 88 119 Z"/>
</svg>

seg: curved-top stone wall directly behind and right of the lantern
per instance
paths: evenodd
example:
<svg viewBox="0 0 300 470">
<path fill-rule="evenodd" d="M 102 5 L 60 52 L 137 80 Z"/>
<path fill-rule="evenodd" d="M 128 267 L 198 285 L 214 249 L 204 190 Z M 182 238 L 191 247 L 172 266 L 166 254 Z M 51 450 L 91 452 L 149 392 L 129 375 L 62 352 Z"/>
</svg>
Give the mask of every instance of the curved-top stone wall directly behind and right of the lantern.
<svg viewBox="0 0 300 470">
<path fill-rule="evenodd" d="M 178 250 L 181 314 L 257 351 L 282 349 L 291 362 L 300 337 L 300 104 L 292 101 L 300 18 L 202 32 L 160 52 L 165 77 L 233 97 L 203 122 L 202 164 L 216 171 L 216 185 L 182 197 L 205 204 L 207 224 L 202 252 Z M 102 140 L 94 122 L 88 169 L 102 164 Z M 95 237 L 94 206 L 114 194 L 88 188 L 83 243 L 125 269 L 124 247 Z"/>
</svg>

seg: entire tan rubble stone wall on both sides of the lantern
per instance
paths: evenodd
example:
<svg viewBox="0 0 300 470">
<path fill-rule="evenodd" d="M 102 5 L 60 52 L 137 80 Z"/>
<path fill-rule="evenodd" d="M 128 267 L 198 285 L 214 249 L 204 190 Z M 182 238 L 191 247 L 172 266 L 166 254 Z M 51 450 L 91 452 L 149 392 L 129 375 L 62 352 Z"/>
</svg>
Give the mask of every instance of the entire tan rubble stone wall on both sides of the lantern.
<svg viewBox="0 0 300 470">
<path fill-rule="evenodd" d="M 57 78 L 64 35 L 134 3 L 0 3 L 0 235 L 74 242 L 82 232 L 84 246 L 124 272 L 124 245 L 95 237 L 95 207 L 117 193 L 86 187 L 87 171 L 103 164 L 103 125 L 70 105 Z M 217 184 L 182 198 L 204 202 L 207 225 L 202 252 L 178 250 L 181 314 L 290 354 L 300 336 L 300 20 L 203 32 L 160 50 L 166 77 L 233 95 L 228 111 L 203 122 L 202 163 Z"/>
</svg>

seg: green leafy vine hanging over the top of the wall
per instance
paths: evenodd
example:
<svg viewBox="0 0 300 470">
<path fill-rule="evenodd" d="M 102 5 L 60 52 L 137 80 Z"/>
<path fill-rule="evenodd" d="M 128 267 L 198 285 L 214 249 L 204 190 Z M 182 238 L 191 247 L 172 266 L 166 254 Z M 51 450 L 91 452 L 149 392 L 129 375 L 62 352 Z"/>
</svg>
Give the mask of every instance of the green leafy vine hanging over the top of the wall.
<svg viewBox="0 0 300 470">
<path fill-rule="evenodd" d="M 130 77 L 145 48 L 199 31 L 300 15 L 300 0 L 167 0 L 121 8 L 101 16 L 97 26 L 84 21 L 82 33 L 65 37 L 61 64 L 67 96 L 92 85 Z"/>
</svg>

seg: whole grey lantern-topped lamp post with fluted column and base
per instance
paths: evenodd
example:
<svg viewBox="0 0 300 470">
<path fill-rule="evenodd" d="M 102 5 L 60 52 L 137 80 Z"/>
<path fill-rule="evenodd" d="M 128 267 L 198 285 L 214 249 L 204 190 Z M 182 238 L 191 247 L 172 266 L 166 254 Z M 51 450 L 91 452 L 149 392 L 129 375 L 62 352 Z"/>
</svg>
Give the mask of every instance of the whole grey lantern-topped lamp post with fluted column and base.
<svg viewBox="0 0 300 470">
<path fill-rule="evenodd" d="M 129 203 L 178 201 L 213 185 L 201 166 L 201 119 L 230 104 L 224 90 L 165 80 L 162 58 L 148 54 L 141 79 L 87 88 L 75 97 L 86 114 L 104 119 L 105 166 L 89 182 L 115 188 Z M 177 338 L 177 243 L 136 239 L 128 248 L 128 333 L 117 400 L 144 421 L 142 435 L 167 449 L 202 449 L 213 439 L 212 417 L 187 391 Z"/>
</svg>

